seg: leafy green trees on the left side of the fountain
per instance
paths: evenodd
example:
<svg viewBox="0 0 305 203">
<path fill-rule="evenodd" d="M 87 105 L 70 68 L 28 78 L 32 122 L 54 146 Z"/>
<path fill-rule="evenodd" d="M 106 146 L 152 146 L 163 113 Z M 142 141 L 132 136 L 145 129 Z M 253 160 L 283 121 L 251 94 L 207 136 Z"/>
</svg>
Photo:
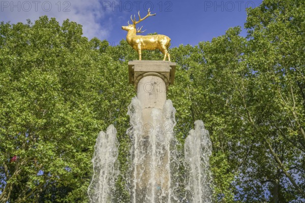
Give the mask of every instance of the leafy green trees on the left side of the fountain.
<svg viewBox="0 0 305 203">
<path fill-rule="evenodd" d="M 123 62 L 81 35 L 46 16 L 1 23 L 1 202 L 85 202 L 97 133 L 128 124 Z"/>
</svg>

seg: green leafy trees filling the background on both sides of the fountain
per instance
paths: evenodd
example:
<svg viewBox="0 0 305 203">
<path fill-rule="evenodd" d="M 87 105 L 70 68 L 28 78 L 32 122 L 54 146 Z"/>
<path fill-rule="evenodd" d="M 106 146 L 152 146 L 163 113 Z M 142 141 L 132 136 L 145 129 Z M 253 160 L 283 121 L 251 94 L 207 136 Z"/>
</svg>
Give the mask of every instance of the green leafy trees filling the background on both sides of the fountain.
<svg viewBox="0 0 305 203">
<path fill-rule="evenodd" d="M 194 121 L 203 120 L 215 202 L 305 198 L 304 22 L 301 1 L 265 0 L 248 10 L 247 38 L 233 27 L 169 50 L 177 148 L 183 154 Z M 158 50 L 142 56 L 163 58 Z M 120 143 L 115 195 L 129 202 L 125 131 L 135 91 L 127 64 L 137 58 L 125 40 L 89 41 L 69 20 L 0 24 L 0 202 L 87 202 L 97 134 L 112 123 Z"/>
</svg>

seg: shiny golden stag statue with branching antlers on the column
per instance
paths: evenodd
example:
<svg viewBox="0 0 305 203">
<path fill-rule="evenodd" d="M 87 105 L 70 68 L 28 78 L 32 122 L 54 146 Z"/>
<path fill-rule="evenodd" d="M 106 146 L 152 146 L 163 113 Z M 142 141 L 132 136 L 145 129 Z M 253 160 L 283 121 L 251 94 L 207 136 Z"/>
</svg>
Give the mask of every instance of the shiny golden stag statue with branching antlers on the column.
<svg viewBox="0 0 305 203">
<path fill-rule="evenodd" d="M 148 14 L 144 18 L 141 18 L 140 11 L 138 12 L 138 15 L 139 15 L 138 21 L 136 21 L 135 15 L 134 15 L 134 19 L 132 19 L 132 15 L 131 15 L 130 18 L 133 24 L 129 24 L 128 21 L 128 26 L 122 26 L 122 29 L 128 31 L 126 36 L 127 43 L 138 52 L 139 60 L 141 60 L 142 50 L 159 49 L 164 54 L 163 60 L 165 60 L 167 56 L 168 60 L 170 61 L 170 56 L 167 51 L 170 45 L 169 37 L 165 35 L 149 35 L 149 36 L 137 35 L 137 33 L 142 33 L 146 29 L 144 31 L 141 31 L 143 26 L 140 29 L 136 29 L 136 24 L 146 19 L 147 17 L 154 16 L 156 14 L 150 14 L 150 11 L 148 9 Z"/>
</svg>

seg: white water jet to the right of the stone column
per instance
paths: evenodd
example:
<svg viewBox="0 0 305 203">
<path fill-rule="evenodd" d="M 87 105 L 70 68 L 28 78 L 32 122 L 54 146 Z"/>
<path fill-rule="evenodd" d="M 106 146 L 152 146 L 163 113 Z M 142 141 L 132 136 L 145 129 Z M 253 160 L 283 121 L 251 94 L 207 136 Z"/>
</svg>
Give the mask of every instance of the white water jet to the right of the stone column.
<svg viewBox="0 0 305 203">
<path fill-rule="evenodd" d="M 211 141 L 201 120 L 195 122 L 195 129 L 190 130 L 184 147 L 187 199 L 193 203 L 212 202 L 209 171 L 209 156 L 212 152 Z"/>
</svg>

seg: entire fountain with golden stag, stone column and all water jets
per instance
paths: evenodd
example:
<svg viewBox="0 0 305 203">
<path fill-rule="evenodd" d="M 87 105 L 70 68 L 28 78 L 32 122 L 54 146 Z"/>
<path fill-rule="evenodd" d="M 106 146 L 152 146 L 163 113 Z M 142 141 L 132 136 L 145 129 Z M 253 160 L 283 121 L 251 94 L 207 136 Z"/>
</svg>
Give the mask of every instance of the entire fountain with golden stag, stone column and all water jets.
<svg viewBox="0 0 305 203">
<path fill-rule="evenodd" d="M 176 63 L 170 62 L 167 51 L 170 38 L 164 35 L 141 36 L 136 24 L 150 14 L 131 18 L 133 24 L 123 26 L 127 30 L 127 42 L 139 54 L 139 60 L 129 61 L 129 82 L 134 84 L 137 96 L 128 107 L 131 127 L 127 134 L 132 141 L 131 170 L 125 177 L 129 202 L 132 203 L 209 203 L 211 202 L 211 174 L 209 156 L 211 142 L 202 121 L 195 122 L 184 145 L 183 153 L 177 150 L 175 139 L 175 108 L 166 100 L 169 85 L 174 83 Z M 163 61 L 141 60 L 141 50 L 159 49 Z M 165 59 L 168 58 L 168 61 Z M 100 132 L 94 158 L 94 175 L 88 188 L 92 203 L 118 203 L 115 197 L 115 181 L 118 176 L 118 142 L 113 125 L 106 133 Z M 182 167 L 184 166 L 184 167 Z M 180 168 L 185 174 L 181 176 Z M 184 189 L 181 189 L 184 188 Z"/>
</svg>

